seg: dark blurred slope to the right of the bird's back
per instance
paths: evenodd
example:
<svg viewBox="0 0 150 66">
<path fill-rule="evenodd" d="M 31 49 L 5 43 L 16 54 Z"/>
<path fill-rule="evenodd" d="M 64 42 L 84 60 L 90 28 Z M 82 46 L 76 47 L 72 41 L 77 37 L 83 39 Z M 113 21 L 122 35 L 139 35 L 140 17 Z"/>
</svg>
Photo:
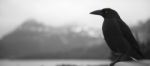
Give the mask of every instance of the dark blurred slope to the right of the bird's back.
<svg viewBox="0 0 150 66">
<path fill-rule="evenodd" d="M 150 19 L 146 22 L 139 22 L 133 27 L 133 32 L 146 59 L 150 59 Z"/>
</svg>

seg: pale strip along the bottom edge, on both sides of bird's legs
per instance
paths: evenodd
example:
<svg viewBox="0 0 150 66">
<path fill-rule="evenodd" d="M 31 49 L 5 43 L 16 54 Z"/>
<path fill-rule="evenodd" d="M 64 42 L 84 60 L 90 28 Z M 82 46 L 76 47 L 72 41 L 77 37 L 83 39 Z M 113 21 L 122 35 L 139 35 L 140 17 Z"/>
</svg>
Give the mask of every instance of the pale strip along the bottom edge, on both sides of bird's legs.
<svg viewBox="0 0 150 66">
<path fill-rule="evenodd" d="M 0 66 L 108 66 L 109 60 L 0 60 Z M 140 60 L 137 62 L 118 62 L 115 66 L 150 66 L 150 60 Z"/>
</svg>

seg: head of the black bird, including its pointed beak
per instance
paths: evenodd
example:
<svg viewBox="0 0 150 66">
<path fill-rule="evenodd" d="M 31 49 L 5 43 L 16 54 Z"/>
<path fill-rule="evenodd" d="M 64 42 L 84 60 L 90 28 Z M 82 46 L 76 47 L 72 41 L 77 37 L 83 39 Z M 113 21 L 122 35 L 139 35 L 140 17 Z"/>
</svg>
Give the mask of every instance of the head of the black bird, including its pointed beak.
<svg viewBox="0 0 150 66">
<path fill-rule="evenodd" d="M 104 8 L 101 10 L 95 10 L 95 11 L 91 12 L 90 14 L 101 15 L 104 18 L 113 18 L 113 17 L 119 16 L 118 13 L 111 8 Z"/>
</svg>

